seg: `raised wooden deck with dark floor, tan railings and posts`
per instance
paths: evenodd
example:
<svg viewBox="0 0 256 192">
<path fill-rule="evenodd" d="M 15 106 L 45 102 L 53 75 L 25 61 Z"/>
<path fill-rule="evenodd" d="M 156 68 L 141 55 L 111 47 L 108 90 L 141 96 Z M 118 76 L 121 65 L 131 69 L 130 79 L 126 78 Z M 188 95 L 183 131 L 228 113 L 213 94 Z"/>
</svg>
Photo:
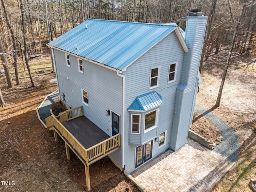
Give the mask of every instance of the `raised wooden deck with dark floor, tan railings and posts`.
<svg viewBox="0 0 256 192">
<path fill-rule="evenodd" d="M 89 165 L 120 148 L 120 133 L 108 136 L 83 116 L 82 106 L 51 115 L 45 121 L 47 129 L 53 130 L 55 141 L 57 134 L 64 140 L 67 159 L 70 160 L 70 148 L 84 163 L 86 187 L 90 191 Z"/>
</svg>

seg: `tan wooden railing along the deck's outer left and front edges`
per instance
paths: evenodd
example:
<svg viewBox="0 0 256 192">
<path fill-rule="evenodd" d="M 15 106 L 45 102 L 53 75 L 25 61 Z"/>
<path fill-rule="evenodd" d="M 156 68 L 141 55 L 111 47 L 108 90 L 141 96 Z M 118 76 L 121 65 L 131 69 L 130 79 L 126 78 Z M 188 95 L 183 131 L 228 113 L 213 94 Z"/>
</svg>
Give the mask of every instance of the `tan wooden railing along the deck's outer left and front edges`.
<svg viewBox="0 0 256 192">
<path fill-rule="evenodd" d="M 62 123 L 54 116 L 45 119 L 47 128 L 54 126 L 62 136 L 70 143 L 70 145 L 88 162 L 106 154 L 110 150 L 120 147 L 120 133 L 116 134 L 88 149 L 84 148 L 82 144 L 62 125 Z"/>
</svg>

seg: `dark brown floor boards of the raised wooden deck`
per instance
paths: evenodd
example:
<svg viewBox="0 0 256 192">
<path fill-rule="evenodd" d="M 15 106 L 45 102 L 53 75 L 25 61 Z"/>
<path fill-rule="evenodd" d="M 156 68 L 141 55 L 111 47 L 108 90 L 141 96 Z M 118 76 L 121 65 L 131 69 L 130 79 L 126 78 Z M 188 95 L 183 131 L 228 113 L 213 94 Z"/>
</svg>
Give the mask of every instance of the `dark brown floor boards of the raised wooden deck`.
<svg viewBox="0 0 256 192">
<path fill-rule="evenodd" d="M 62 124 L 86 149 L 110 138 L 85 116 L 64 121 Z"/>
</svg>

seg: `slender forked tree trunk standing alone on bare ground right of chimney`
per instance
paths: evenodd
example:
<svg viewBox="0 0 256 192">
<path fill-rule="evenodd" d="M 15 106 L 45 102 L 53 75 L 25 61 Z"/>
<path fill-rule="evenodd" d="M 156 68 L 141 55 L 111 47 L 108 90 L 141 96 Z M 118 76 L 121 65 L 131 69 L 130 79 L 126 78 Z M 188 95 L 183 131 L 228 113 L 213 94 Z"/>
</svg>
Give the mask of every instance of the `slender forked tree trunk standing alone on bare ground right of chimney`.
<svg viewBox="0 0 256 192">
<path fill-rule="evenodd" d="M 238 29 L 239 29 L 239 26 L 240 26 L 240 21 L 241 21 L 241 18 L 242 18 L 242 14 L 244 13 L 244 10 L 246 8 L 246 4 L 244 4 L 243 8 L 242 8 L 242 11 L 240 12 L 237 24 L 235 26 L 235 22 L 234 22 L 234 18 L 233 18 L 233 14 L 232 14 L 232 10 L 231 10 L 229 1 L 228 1 L 228 6 L 229 6 L 230 17 L 231 17 L 235 32 L 234 32 L 234 35 L 233 35 L 233 38 L 232 38 L 232 43 L 230 45 L 230 49 L 229 49 L 229 52 L 228 52 L 228 60 L 226 62 L 225 70 L 224 70 L 222 80 L 221 80 L 221 83 L 220 83 L 220 90 L 219 90 L 218 97 L 217 97 L 216 104 L 215 104 L 216 107 L 220 106 L 220 99 L 221 99 L 221 96 L 222 96 L 222 90 L 223 90 L 224 82 L 225 82 L 225 79 L 226 79 L 226 74 L 228 72 L 228 66 L 229 66 L 229 63 L 230 63 L 230 58 L 231 58 L 231 55 L 232 55 L 234 44 L 236 42 L 236 36 L 237 36 Z"/>
</svg>

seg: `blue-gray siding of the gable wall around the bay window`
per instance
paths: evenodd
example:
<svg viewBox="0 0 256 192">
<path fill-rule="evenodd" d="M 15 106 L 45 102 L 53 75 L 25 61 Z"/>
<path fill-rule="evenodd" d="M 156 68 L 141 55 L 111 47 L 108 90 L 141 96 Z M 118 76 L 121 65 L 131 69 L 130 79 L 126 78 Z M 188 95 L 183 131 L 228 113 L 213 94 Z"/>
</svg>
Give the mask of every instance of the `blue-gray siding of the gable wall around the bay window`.
<svg viewBox="0 0 256 192">
<path fill-rule="evenodd" d="M 132 145 L 132 142 L 138 142 L 138 136 L 130 134 L 130 113 L 127 108 L 132 104 L 137 96 L 146 94 L 155 90 L 162 96 L 163 104 L 159 107 L 158 112 L 158 127 L 144 134 L 144 126 L 140 130 L 141 141 L 143 144 L 148 140 L 159 137 L 161 132 L 167 130 L 166 144 L 158 149 L 158 142 L 153 141 L 152 158 L 169 148 L 170 133 L 172 126 L 172 116 L 174 110 L 174 102 L 176 95 L 176 88 L 181 79 L 182 63 L 184 50 L 178 41 L 174 32 L 169 34 L 166 38 L 156 44 L 136 62 L 123 72 L 125 76 L 125 153 L 124 164 L 128 173 L 134 170 L 135 164 L 135 148 L 138 145 Z M 169 64 L 178 62 L 176 81 L 168 82 Z M 150 82 L 150 68 L 160 66 L 160 80 L 159 87 L 149 89 Z M 144 113 L 141 116 L 142 124 L 144 124 Z M 130 137 L 130 144 L 129 139 Z"/>
</svg>

